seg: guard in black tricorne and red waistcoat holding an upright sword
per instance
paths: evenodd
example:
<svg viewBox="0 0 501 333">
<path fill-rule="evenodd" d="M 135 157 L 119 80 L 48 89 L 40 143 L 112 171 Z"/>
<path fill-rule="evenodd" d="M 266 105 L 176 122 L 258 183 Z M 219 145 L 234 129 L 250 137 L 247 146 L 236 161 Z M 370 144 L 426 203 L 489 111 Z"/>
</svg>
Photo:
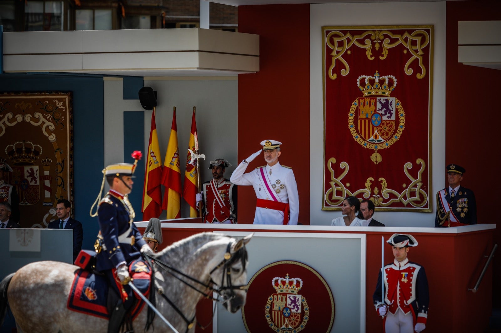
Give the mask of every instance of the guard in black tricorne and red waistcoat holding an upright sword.
<svg viewBox="0 0 501 333">
<path fill-rule="evenodd" d="M 407 257 L 417 240 L 410 234 L 394 233 L 387 242 L 395 259 L 382 267 L 384 276 L 379 271 L 372 295 L 376 311 L 383 316 L 386 333 L 419 333 L 426 328 L 429 293 L 424 267 Z"/>
</svg>

